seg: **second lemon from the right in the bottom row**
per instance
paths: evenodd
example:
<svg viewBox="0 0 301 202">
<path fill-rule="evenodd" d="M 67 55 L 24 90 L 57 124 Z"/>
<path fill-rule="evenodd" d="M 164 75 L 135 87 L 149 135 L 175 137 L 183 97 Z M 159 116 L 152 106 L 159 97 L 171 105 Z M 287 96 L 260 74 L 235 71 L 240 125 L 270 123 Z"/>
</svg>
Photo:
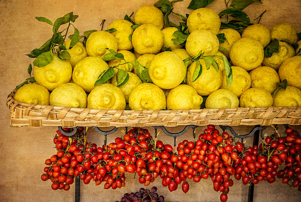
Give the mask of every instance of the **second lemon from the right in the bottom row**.
<svg viewBox="0 0 301 202">
<path fill-rule="evenodd" d="M 240 107 L 269 107 L 272 105 L 271 94 L 263 88 L 250 88 L 241 94 Z"/>
</svg>

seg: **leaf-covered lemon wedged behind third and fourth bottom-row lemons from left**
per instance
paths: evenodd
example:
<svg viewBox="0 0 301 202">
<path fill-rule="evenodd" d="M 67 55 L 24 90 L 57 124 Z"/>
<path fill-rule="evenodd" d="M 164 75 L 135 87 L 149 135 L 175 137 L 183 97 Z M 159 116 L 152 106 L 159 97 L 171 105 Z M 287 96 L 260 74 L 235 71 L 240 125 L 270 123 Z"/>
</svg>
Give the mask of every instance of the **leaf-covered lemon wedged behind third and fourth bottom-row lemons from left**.
<svg viewBox="0 0 301 202">
<path fill-rule="evenodd" d="M 128 81 L 124 85 L 119 86 L 121 92 L 124 95 L 126 103 L 128 103 L 128 98 L 129 98 L 129 95 L 131 94 L 132 90 L 134 88 L 136 88 L 139 84 L 142 84 L 142 81 L 140 80 L 140 78 L 136 74 L 128 72 L 128 75 L 129 75 Z M 117 86 L 116 76 L 117 75 L 113 76 L 113 78 L 111 80 L 111 83 L 114 86 Z"/>
</svg>

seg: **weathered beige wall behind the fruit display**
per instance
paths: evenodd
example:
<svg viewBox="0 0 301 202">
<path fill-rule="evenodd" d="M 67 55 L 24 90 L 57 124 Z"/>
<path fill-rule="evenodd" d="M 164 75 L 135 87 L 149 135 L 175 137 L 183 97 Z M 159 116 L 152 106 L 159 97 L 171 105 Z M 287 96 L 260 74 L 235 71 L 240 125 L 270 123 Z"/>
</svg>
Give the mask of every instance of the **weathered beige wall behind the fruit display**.
<svg viewBox="0 0 301 202">
<path fill-rule="evenodd" d="M 175 11 L 182 14 L 191 12 L 186 9 L 190 0 L 178 2 Z M 40 175 L 44 168 L 44 161 L 55 154 L 53 136 L 57 128 L 10 128 L 9 113 L 5 106 L 8 93 L 28 77 L 27 67 L 32 60 L 25 56 L 33 48 L 40 46 L 51 36 L 51 27 L 38 22 L 35 16 L 44 16 L 51 20 L 73 11 L 80 17 L 76 20 L 76 27 L 81 34 L 86 30 L 99 29 L 102 19 L 106 19 L 105 27 L 113 20 L 123 18 L 125 13 L 130 14 L 138 7 L 153 4 L 154 0 L 0 0 L 0 56 L 1 56 L 1 91 L 0 111 L 2 112 L 1 140 L 0 140 L 0 201 L 5 202 L 72 202 L 74 201 L 74 185 L 69 191 L 52 191 L 50 181 L 41 181 Z M 285 3 L 283 3 L 285 2 Z M 224 8 L 223 0 L 215 0 L 210 8 L 219 12 Z M 268 27 L 281 22 L 292 23 L 301 32 L 301 1 L 300 0 L 264 0 L 264 4 L 254 4 L 246 9 L 251 19 L 257 17 L 265 9 L 268 12 L 262 18 L 262 23 Z M 301 131 L 301 127 L 295 127 Z M 242 133 L 250 127 L 238 128 Z M 153 130 L 150 129 L 152 132 Z M 174 130 L 180 130 L 174 129 Z M 199 127 L 200 133 L 204 127 Z M 90 129 L 90 131 L 92 131 Z M 271 128 L 270 128 L 271 132 Z M 108 142 L 120 135 L 120 130 L 109 136 Z M 103 137 L 94 131 L 88 135 L 90 141 L 99 145 Z M 172 137 L 161 133 L 159 138 L 166 143 L 173 142 Z M 191 131 L 180 140 L 192 139 Z M 252 139 L 248 140 L 252 142 Z M 170 193 L 163 188 L 160 179 L 153 185 L 158 187 L 158 193 L 163 194 L 168 201 L 219 201 L 219 193 L 213 191 L 211 180 L 201 180 L 200 183 L 190 183 L 190 190 L 185 195 L 181 187 L 176 192 Z M 127 175 L 126 187 L 121 190 L 103 190 L 103 185 L 95 187 L 81 186 L 81 201 L 112 202 L 120 200 L 125 192 L 138 190 L 141 185 L 133 175 Z M 247 186 L 241 181 L 235 181 L 228 196 L 229 201 L 246 201 Z M 273 184 L 261 182 L 255 187 L 254 199 L 261 201 L 301 201 L 301 193 L 297 189 L 290 189 L 282 185 L 280 180 Z"/>
</svg>

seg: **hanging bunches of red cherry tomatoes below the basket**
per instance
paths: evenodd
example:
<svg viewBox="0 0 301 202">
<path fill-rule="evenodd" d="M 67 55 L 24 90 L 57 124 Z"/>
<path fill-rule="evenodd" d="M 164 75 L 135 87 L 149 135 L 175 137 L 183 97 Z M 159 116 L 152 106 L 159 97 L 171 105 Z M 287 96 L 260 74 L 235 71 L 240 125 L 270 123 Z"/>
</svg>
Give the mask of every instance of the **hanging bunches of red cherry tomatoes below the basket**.
<svg viewBox="0 0 301 202">
<path fill-rule="evenodd" d="M 64 129 L 69 130 L 69 129 Z M 291 128 L 281 137 L 277 132 L 267 136 L 259 146 L 244 147 L 228 133 L 219 133 L 208 125 L 196 141 L 184 140 L 173 148 L 152 138 L 147 129 L 133 128 L 115 142 L 97 147 L 86 141 L 85 128 L 79 127 L 72 137 L 57 131 L 54 138 L 57 154 L 45 161 L 47 165 L 42 180 L 50 179 L 52 189 L 69 190 L 74 177 L 85 184 L 104 183 L 104 189 L 125 186 L 125 172 L 137 173 L 138 181 L 145 186 L 155 178 L 169 191 L 178 189 L 187 193 L 187 179 L 200 182 L 211 178 L 213 189 L 221 192 L 220 200 L 226 202 L 232 176 L 244 184 L 258 184 L 282 178 L 282 183 L 298 187 L 301 191 L 301 138 Z M 176 149 L 176 151 L 175 151 Z M 285 168 L 278 170 L 280 164 Z"/>
</svg>

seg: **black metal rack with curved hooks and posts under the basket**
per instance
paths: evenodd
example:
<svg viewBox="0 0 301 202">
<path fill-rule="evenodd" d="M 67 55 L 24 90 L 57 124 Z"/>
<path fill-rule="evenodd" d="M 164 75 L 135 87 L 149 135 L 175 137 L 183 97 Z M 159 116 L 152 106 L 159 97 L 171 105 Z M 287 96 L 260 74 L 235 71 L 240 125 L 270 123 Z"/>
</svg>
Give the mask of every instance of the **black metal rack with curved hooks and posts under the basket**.
<svg viewBox="0 0 301 202">
<path fill-rule="evenodd" d="M 152 126 L 152 128 L 154 128 L 154 130 L 155 130 L 155 134 L 154 134 L 155 138 L 158 135 L 157 129 L 161 129 L 166 135 L 174 137 L 174 146 L 176 146 L 176 144 L 177 144 L 177 141 L 176 141 L 177 137 L 181 136 L 181 135 L 184 135 L 188 131 L 188 129 L 190 129 L 190 128 L 192 128 L 193 138 L 195 139 L 195 129 L 197 127 L 198 126 L 196 126 L 196 125 L 187 125 L 181 132 L 171 133 L 164 126 Z M 258 145 L 259 136 L 261 137 L 261 139 L 264 139 L 263 131 L 268 128 L 268 126 L 259 126 L 259 125 L 257 125 L 257 126 L 254 126 L 254 128 L 248 134 L 239 135 L 230 126 L 219 125 L 219 127 L 223 130 L 223 132 L 225 132 L 226 130 L 229 130 L 234 137 L 241 138 L 241 143 L 243 145 L 244 145 L 243 139 L 251 137 L 253 135 L 254 135 L 253 145 L 255 145 L 255 144 Z M 288 124 L 284 124 L 284 127 L 287 129 L 289 126 L 288 126 Z M 278 127 L 275 126 L 275 129 L 277 130 Z M 104 144 L 107 144 L 107 135 L 111 135 L 111 134 L 115 133 L 118 130 L 118 127 L 114 127 L 110 131 L 102 131 L 98 127 L 94 127 L 94 130 L 97 133 L 99 133 L 101 135 L 104 135 Z M 65 132 L 62 129 L 62 127 L 59 126 L 59 131 L 63 135 L 72 136 L 72 135 L 76 134 L 77 127 L 71 128 L 70 132 Z M 298 136 L 300 136 L 298 131 L 296 131 L 296 130 L 293 130 L 293 131 L 297 132 Z M 84 130 L 84 133 L 86 134 L 85 130 Z M 127 127 L 125 127 L 125 133 L 127 133 Z M 254 198 L 254 184 L 251 183 L 251 185 L 249 186 L 249 190 L 248 190 L 248 202 L 253 202 L 253 198 Z M 79 201 L 80 201 L 80 179 L 78 177 L 76 177 L 75 178 L 75 202 L 79 202 Z"/>
</svg>

